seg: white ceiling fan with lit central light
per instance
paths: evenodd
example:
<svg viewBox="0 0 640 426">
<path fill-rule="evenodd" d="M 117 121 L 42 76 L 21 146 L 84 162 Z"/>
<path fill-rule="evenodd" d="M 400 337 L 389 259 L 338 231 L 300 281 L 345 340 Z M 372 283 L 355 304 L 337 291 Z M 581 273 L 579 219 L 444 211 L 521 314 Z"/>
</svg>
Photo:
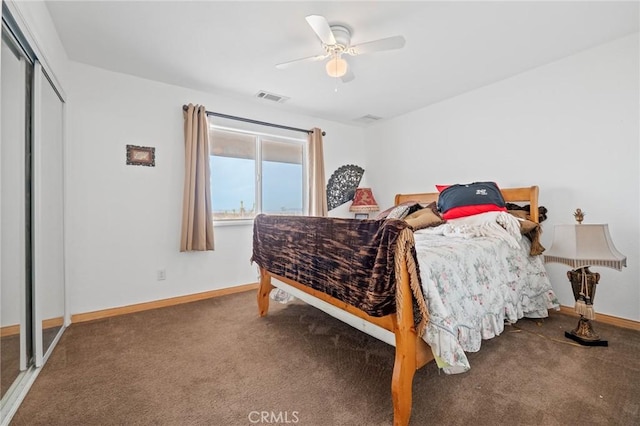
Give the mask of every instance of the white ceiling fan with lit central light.
<svg viewBox="0 0 640 426">
<path fill-rule="evenodd" d="M 347 83 L 354 79 L 353 72 L 349 64 L 342 57 L 343 55 L 362 55 L 365 53 L 379 52 L 381 50 L 400 49 L 404 46 L 404 37 L 393 36 L 365 43 L 351 45 L 351 30 L 344 25 L 329 25 L 327 19 L 321 15 L 309 15 L 305 18 L 311 29 L 316 33 L 324 53 L 306 58 L 295 59 L 293 61 L 282 62 L 276 65 L 278 69 L 285 69 L 291 65 L 301 62 L 327 61 L 326 70 L 330 77 L 340 78 Z"/>
</svg>

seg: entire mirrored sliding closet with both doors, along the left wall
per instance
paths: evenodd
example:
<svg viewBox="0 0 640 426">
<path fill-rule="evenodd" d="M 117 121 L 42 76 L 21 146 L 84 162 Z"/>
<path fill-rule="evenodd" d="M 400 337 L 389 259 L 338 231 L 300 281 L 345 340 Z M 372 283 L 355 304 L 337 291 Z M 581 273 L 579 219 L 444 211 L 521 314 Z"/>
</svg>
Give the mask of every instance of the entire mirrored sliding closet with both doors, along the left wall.
<svg viewBox="0 0 640 426">
<path fill-rule="evenodd" d="M 2 4 L 0 425 L 8 424 L 68 322 L 64 96 Z"/>
</svg>

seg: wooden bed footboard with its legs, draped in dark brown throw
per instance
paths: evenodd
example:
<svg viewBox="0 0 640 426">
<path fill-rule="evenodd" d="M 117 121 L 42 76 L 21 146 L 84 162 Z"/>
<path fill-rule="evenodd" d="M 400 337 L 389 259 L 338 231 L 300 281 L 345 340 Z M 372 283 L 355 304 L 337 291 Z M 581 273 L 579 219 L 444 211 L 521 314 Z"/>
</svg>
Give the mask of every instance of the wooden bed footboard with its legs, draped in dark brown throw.
<svg viewBox="0 0 640 426">
<path fill-rule="evenodd" d="M 393 422 L 402 426 L 411 417 L 415 371 L 433 359 L 420 337 L 428 311 L 414 245 L 412 228 L 397 219 L 258 215 L 254 221 L 252 260 L 260 267 L 259 315 L 269 310 L 274 278 L 313 296 L 312 302 L 321 300 L 393 333 L 387 334 L 396 347 Z"/>
</svg>

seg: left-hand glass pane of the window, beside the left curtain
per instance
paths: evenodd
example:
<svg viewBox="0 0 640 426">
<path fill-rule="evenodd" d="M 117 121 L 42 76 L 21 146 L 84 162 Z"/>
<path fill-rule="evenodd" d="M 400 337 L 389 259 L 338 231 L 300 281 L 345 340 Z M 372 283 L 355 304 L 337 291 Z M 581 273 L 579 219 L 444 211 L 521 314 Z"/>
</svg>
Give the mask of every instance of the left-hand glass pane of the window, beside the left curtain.
<svg viewBox="0 0 640 426">
<path fill-rule="evenodd" d="M 213 130 L 211 206 L 214 220 L 250 219 L 256 210 L 255 136 Z"/>
</svg>

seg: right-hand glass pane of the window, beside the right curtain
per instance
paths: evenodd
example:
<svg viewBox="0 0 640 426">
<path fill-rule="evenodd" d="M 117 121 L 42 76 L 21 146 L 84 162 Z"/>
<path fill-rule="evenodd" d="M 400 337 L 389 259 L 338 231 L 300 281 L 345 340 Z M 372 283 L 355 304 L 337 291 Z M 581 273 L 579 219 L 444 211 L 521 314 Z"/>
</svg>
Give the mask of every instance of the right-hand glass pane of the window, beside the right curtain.
<svg viewBox="0 0 640 426">
<path fill-rule="evenodd" d="M 262 141 L 262 212 L 302 215 L 302 145 Z"/>
</svg>

